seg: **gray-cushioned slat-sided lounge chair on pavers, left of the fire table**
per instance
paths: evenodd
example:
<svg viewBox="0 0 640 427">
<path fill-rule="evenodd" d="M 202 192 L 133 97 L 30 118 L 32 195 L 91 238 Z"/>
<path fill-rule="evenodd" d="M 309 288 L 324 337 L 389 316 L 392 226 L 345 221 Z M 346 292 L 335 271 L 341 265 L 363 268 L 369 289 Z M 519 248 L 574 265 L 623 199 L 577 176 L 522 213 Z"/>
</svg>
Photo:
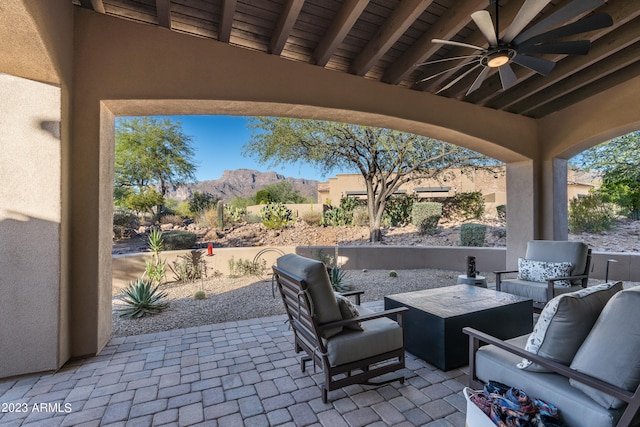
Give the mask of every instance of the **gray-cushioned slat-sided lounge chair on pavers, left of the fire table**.
<svg viewBox="0 0 640 427">
<path fill-rule="evenodd" d="M 380 385 L 404 382 L 403 376 L 372 383 L 372 378 L 405 366 L 402 314 L 406 308 L 374 313 L 360 307 L 361 291 L 354 295 L 356 309 L 333 292 L 324 264 L 295 254 L 284 255 L 273 267 L 282 301 L 294 333 L 296 353 L 304 372 L 307 362 L 324 371 L 322 401 L 328 392 L 351 384 Z M 353 317 L 355 315 L 355 317 Z M 397 321 L 387 316 L 396 316 Z"/>
</svg>

